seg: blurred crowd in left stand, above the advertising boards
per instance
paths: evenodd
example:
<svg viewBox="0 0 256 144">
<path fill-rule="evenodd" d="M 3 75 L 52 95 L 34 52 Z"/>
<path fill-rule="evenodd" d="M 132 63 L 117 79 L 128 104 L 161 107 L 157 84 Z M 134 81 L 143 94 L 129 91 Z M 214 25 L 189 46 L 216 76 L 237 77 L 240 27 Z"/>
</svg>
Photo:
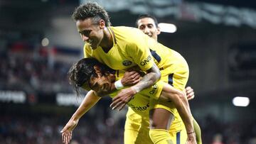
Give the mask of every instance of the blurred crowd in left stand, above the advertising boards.
<svg viewBox="0 0 256 144">
<path fill-rule="evenodd" d="M 70 65 L 51 60 L 47 48 L 15 43 L 0 51 L 0 87 L 30 94 L 70 90 Z"/>
</svg>

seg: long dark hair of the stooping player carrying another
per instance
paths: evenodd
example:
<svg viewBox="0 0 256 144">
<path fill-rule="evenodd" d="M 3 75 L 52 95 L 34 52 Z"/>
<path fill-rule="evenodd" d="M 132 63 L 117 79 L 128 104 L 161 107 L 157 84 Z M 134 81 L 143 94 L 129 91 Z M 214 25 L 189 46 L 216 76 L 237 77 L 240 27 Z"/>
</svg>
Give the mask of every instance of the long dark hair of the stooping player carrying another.
<svg viewBox="0 0 256 144">
<path fill-rule="evenodd" d="M 107 67 L 107 65 L 98 62 L 95 58 L 83 58 L 79 60 L 72 65 L 68 71 L 68 81 L 70 85 L 74 87 L 77 96 L 80 96 L 79 88 L 82 87 L 85 82 L 89 82 L 90 77 L 97 76 L 94 68 L 95 65 L 100 67 L 102 74 L 106 72 L 114 74 L 115 72 L 110 67 Z"/>
</svg>

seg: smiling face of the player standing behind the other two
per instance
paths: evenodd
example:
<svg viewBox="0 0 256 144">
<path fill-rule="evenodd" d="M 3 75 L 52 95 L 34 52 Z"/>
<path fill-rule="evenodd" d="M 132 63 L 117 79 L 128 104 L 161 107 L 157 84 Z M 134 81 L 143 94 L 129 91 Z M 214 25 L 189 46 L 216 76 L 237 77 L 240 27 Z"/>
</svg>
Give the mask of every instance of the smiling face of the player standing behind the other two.
<svg viewBox="0 0 256 144">
<path fill-rule="evenodd" d="M 143 31 L 143 33 L 157 40 L 157 35 L 159 35 L 160 31 L 159 28 L 156 27 L 156 24 L 152 18 L 139 19 L 137 25 L 138 28 Z"/>
</svg>

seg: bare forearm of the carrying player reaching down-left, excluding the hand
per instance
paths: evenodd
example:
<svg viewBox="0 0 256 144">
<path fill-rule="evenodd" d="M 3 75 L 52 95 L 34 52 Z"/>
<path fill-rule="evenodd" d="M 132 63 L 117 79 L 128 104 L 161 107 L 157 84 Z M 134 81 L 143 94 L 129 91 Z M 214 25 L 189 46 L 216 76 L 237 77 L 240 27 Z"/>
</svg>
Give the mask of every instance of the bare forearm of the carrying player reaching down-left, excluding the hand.
<svg viewBox="0 0 256 144">
<path fill-rule="evenodd" d="M 80 104 L 80 106 L 78 107 L 78 109 L 75 111 L 75 113 L 70 119 L 73 121 L 79 120 L 99 100 L 100 100 L 100 97 L 96 96 L 92 90 L 87 92 L 85 99 L 83 99 L 82 103 Z"/>
</svg>

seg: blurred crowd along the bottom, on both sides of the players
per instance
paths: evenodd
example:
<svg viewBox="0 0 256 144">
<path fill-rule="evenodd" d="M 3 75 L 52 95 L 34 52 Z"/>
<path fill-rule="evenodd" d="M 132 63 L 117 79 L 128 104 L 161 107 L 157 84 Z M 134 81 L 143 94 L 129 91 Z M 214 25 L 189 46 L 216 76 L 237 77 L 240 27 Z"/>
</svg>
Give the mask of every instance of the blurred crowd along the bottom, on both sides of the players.
<svg viewBox="0 0 256 144">
<path fill-rule="evenodd" d="M 208 117 L 210 118 L 210 117 Z M 256 125 L 245 126 L 234 123 L 220 123 L 214 118 L 201 122 L 203 143 L 206 144 L 255 144 Z M 5 144 L 60 144 L 60 131 L 68 121 L 63 116 L 0 117 L 0 143 Z M 71 144 L 121 144 L 123 143 L 124 121 L 113 123 L 111 118 L 85 116 L 80 119 L 73 132 Z"/>
</svg>

